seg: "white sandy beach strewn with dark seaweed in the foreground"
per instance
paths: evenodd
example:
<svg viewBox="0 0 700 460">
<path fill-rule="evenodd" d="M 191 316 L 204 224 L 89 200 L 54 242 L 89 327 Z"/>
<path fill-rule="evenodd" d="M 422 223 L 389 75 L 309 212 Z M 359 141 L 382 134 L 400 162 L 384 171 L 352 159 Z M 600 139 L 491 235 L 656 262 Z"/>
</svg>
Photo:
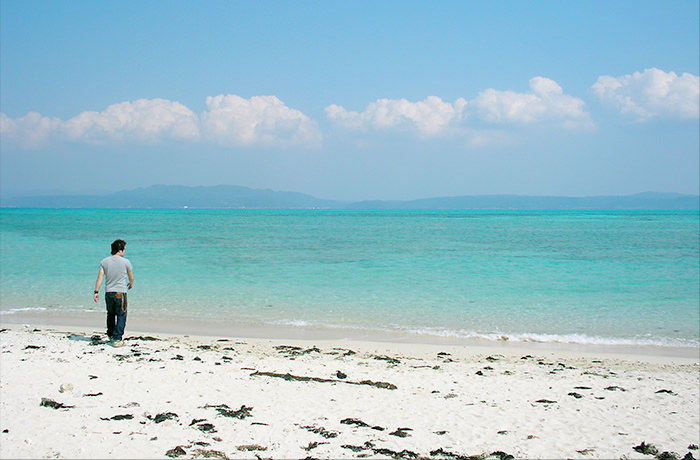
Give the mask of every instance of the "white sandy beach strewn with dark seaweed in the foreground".
<svg viewBox="0 0 700 460">
<path fill-rule="evenodd" d="M 697 357 L 2 327 L 2 458 L 700 458 Z"/>
</svg>

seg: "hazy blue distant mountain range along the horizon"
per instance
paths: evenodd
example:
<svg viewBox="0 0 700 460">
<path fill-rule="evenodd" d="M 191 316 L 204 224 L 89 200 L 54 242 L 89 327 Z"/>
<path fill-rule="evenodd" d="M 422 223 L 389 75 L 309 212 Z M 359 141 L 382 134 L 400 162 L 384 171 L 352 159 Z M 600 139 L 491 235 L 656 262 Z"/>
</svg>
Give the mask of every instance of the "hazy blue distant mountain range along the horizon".
<svg viewBox="0 0 700 460">
<path fill-rule="evenodd" d="M 8 208 L 136 209 L 700 209 L 700 196 L 639 193 L 626 196 L 475 195 L 408 201 L 336 201 L 296 192 L 233 185 L 154 185 L 106 195 L 43 195 L 2 198 Z"/>
</svg>

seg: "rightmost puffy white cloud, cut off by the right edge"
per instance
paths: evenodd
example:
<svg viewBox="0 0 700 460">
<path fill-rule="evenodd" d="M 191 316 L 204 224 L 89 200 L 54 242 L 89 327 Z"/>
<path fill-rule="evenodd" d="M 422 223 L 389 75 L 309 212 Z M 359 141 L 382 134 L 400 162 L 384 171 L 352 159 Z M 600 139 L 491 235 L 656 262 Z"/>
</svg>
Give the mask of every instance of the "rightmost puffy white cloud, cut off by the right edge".
<svg viewBox="0 0 700 460">
<path fill-rule="evenodd" d="M 646 69 L 621 77 L 602 76 L 593 92 L 603 101 L 638 121 L 654 117 L 698 118 L 700 78 L 684 73 Z"/>
</svg>

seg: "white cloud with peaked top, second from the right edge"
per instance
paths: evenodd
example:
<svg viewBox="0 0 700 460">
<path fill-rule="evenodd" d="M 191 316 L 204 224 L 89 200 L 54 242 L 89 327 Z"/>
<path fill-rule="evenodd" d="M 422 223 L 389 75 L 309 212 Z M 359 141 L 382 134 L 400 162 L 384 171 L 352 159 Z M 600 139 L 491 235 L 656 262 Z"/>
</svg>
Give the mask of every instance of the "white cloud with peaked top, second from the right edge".
<svg viewBox="0 0 700 460">
<path fill-rule="evenodd" d="M 586 103 L 564 94 L 549 78 L 530 79 L 530 92 L 487 89 L 470 102 L 477 116 L 489 123 L 561 123 L 565 127 L 589 126 Z"/>
</svg>

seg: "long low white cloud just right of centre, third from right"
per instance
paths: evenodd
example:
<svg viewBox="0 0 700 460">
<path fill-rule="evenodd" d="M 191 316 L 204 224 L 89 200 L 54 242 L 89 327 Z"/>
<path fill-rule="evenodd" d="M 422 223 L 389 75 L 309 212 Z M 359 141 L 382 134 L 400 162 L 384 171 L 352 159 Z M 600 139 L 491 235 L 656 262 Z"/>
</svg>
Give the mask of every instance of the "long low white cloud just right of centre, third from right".
<svg viewBox="0 0 700 460">
<path fill-rule="evenodd" d="M 450 104 L 436 96 L 419 102 L 379 99 L 369 104 L 362 113 L 330 105 L 326 107 L 326 115 L 349 129 L 411 127 L 422 136 L 432 137 L 442 134 L 451 123 L 461 119 L 466 105 L 467 101 L 461 98 Z"/>
</svg>

